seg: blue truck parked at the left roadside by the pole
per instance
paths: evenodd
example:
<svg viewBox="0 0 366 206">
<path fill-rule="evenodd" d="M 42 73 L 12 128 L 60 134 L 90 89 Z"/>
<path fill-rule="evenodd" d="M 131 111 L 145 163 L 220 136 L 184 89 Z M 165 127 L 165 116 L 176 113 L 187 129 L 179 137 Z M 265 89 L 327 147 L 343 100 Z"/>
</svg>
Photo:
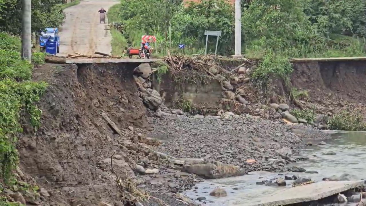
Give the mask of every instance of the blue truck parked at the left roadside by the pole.
<svg viewBox="0 0 366 206">
<path fill-rule="evenodd" d="M 59 29 L 46 28 L 40 36 L 41 51 L 56 55 L 60 52 L 60 36 Z"/>
</svg>

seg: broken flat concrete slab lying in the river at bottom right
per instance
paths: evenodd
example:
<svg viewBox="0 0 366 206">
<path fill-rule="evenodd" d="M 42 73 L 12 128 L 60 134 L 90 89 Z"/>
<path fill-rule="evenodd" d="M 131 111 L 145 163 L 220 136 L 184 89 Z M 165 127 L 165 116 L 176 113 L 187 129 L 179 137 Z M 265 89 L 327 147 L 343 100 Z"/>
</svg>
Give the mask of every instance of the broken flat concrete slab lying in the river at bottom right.
<svg viewBox="0 0 366 206">
<path fill-rule="evenodd" d="M 301 202 L 310 202 L 323 199 L 340 192 L 344 192 L 364 185 L 364 181 L 321 181 L 318 183 L 302 185 L 292 188 L 277 190 L 258 199 L 237 202 L 237 206 L 285 206 Z M 244 194 L 241 194 L 244 195 Z"/>
</svg>

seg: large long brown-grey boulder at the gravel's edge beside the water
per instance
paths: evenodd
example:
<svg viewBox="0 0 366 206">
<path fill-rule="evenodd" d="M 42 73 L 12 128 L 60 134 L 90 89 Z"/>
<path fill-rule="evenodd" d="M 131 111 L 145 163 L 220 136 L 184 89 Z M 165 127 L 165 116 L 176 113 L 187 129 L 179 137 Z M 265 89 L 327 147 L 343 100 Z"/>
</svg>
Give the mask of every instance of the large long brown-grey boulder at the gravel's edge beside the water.
<svg viewBox="0 0 366 206">
<path fill-rule="evenodd" d="M 227 165 L 219 161 L 184 162 L 183 172 L 194 173 L 207 179 L 243 175 L 245 171 L 235 165 Z"/>
</svg>

